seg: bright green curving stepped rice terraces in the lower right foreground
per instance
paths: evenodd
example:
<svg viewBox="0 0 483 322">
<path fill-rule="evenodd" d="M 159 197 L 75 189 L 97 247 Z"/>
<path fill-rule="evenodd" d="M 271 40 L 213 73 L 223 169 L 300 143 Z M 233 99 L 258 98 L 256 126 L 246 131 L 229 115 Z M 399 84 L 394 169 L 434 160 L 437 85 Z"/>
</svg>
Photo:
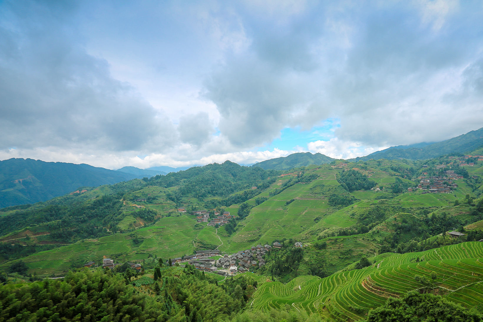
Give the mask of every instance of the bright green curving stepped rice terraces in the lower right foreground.
<svg viewBox="0 0 483 322">
<path fill-rule="evenodd" d="M 424 261 L 415 263 L 417 257 Z M 426 252 L 383 254 L 373 266 L 324 279 L 304 276 L 285 285 L 266 282 L 258 288 L 252 307 L 266 310 L 288 304 L 336 321 L 357 321 L 387 297 L 422 288 L 414 277 L 430 279 L 432 272 L 443 296 L 467 307 L 483 305 L 483 242 L 465 242 Z"/>
</svg>

